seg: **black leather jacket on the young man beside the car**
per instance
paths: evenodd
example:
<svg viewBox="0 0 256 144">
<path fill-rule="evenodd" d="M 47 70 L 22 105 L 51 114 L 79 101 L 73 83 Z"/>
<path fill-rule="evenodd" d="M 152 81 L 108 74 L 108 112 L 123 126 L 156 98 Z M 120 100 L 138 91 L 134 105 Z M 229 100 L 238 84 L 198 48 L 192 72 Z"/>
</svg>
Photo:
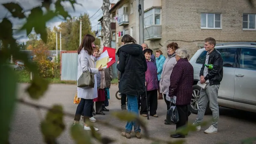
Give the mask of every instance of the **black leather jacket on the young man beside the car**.
<svg viewBox="0 0 256 144">
<path fill-rule="evenodd" d="M 208 64 L 213 64 L 213 68 L 208 69 L 208 74 L 204 77 L 204 79 L 209 79 L 210 85 L 220 84 L 223 77 L 223 59 L 219 51 L 214 49 L 209 54 Z M 200 76 L 204 76 L 204 64 L 201 68 Z"/>
</svg>

